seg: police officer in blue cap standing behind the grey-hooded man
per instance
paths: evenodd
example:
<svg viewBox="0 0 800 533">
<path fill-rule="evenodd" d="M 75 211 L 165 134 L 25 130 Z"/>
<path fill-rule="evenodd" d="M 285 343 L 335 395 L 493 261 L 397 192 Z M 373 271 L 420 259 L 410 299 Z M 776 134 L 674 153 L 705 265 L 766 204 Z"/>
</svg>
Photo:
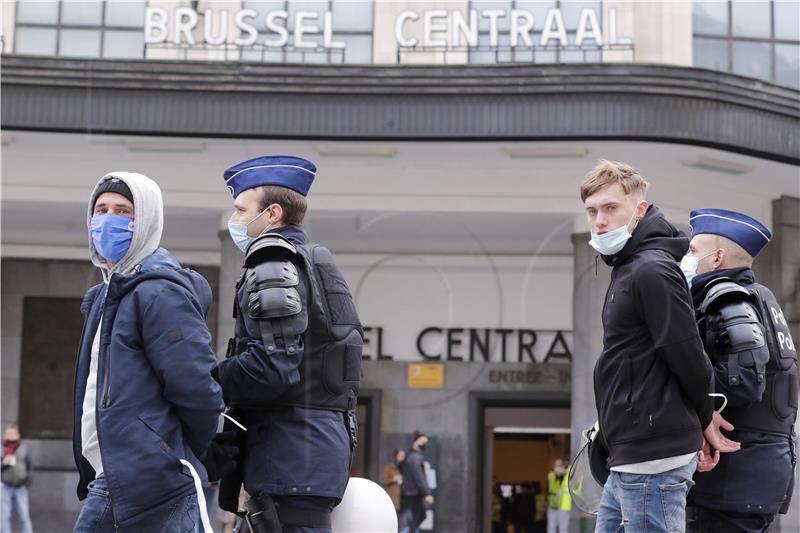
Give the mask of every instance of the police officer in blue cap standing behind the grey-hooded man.
<svg viewBox="0 0 800 533">
<path fill-rule="evenodd" d="M 327 532 L 356 446 L 363 330 L 341 272 L 303 227 L 316 175 L 299 157 L 234 165 L 231 238 L 244 252 L 235 337 L 215 377 L 238 431 L 239 468 L 222 478 L 220 506 L 237 511 L 242 483 L 254 533 Z"/>
</svg>

